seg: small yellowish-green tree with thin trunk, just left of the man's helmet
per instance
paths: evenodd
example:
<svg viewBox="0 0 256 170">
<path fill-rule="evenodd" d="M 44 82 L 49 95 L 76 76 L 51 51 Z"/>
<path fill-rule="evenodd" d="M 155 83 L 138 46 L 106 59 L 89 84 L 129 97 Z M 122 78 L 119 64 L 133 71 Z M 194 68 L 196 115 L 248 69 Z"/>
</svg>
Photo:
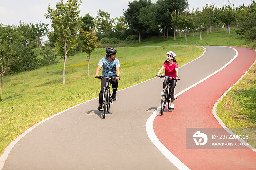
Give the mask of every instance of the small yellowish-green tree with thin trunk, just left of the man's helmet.
<svg viewBox="0 0 256 170">
<path fill-rule="evenodd" d="M 97 44 L 98 38 L 96 36 L 94 28 L 90 28 L 90 31 L 84 31 L 80 29 L 79 37 L 83 41 L 83 48 L 82 52 L 86 52 L 88 56 L 88 68 L 87 68 L 87 75 L 89 76 L 89 68 L 90 68 L 90 55 L 91 52 L 99 47 Z"/>
</svg>

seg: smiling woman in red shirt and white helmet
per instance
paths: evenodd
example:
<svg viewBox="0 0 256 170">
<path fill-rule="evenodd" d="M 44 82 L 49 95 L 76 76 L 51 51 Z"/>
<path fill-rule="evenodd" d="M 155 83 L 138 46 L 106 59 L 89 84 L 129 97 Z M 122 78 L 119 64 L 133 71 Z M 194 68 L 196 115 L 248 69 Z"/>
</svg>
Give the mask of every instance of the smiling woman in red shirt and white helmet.
<svg viewBox="0 0 256 170">
<path fill-rule="evenodd" d="M 160 68 L 160 70 L 157 73 L 157 76 L 159 77 L 163 69 L 165 68 L 165 76 L 174 77 L 175 80 L 170 79 L 170 93 L 171 93 L 171 109 L 174 109 L 174 88 L 177 83 L 177 79 L 179 78 L 178 73 L 178 64 L 175 60 L 176 54 L 173 51 L 169 51 L 166 53 L 166 61 L 163 63 L 163 66 Z M 163 81 L 163 88 L 166 87 L 167 78 Z M 163 91 L 161 92 L 161 96 L 163 95 Z"/>
</svg>

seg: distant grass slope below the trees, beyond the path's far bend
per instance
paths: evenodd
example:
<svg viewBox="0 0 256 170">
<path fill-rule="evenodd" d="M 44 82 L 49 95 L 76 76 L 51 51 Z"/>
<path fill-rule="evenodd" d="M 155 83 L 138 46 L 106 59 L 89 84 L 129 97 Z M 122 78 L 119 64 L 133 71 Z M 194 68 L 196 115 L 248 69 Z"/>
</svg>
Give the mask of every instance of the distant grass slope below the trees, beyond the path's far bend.
<svg viewBox="0 0 256 170">
<path fill-rule="evenodd" d="M 204 45 L 204 46 L 238 46 L 256 48 L 256 41 L 245 39 L 244 36 L 237 35 L 234 29 L 231 29 L 230 35 L 223 30 L 202 34 L 202 41 L 200 41 L 199 33 L 193 33 L 187 35 L 187 41 L 185 41 L 185 35 L 181 37 L 176 36 L 176 40 L 173 37 L 169 37 L 166 40 L 159 38 L 142 40 L 142 43 L 130 44 L 128 46 L 162 46 L 162 45 Z"/>
</svg>

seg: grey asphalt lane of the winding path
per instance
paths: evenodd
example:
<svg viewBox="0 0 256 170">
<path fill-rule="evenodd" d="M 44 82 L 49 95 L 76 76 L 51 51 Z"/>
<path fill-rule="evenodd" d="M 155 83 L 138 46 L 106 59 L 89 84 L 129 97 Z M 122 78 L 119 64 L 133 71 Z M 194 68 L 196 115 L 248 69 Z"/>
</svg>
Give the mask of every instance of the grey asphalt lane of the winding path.
<svg viewBox="0 0 256 170">
<path fill-rule="evenodd" d="M 228 47 L 205 48 L 201 58 L 179 69 L 176 93 L 236 55 Z M 13 147 L 3 169 L 177 169 L 145 129 L 148 117 L 160 105 L 162 82 L 154 78 L 118 91 L 105 119 L 94 99 L 42 123 Z"/>
</svg>

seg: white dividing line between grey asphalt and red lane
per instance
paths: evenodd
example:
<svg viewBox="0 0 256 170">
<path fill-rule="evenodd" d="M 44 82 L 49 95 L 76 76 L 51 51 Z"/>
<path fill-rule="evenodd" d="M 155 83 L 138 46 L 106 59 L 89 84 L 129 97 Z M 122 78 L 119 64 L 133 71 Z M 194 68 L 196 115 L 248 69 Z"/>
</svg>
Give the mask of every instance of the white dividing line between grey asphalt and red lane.
<svg viewBox="0 0 256 170">
<path fill-rule="evenodd" d="M 232 48 L 232 47 L 227 47 L 227 48 Z M 238 52 L 236 49 L 232 48 L 235 52 L 236 55 L 227 63 L 225 64 L 223 67 L 219 68 L 219 70 L 215 71 L 214 73 L 208 75 L 207 77 L 203 78 L 202 80 L 200 80 L 199 82 L 193 84 L 192 86 L 189 86 L 188 88 L 186 88 L 185 90 L 180 91 L 178 94 L 175 95 L 175 97 L 181 95 L 182 93 L 184 93 L 185 91 L 191 89 L 192 87 L 195 87 L 197 84 L 203 82 L 204 80 L 210 78 L 211 76 L 213 76 L 214 74 L 216 74 L 217 72 L 221 71 L 223 68 L 225 68 L 227 65 L 229 65 L 234 59 L 237 58 L 238 56 Z M 171 151 L 169 151 L 157 138 L 157 135 L 155 134 L 155 131 L 153 129 L 153 122 L 155 120 L 155 117 L 159 114 L 160 111 L 160 107 L 157 108 L 156 111 L 153 112 L 153 114 L 150 115 L 150 117 L 148 118 L 147 122 L 146 122 L 146 131 L 148 134 L 148 137 L 150 138 L 151 142 L 157 147 L 157 149 L 159 151 L 161 151 L 161 153 L 163 155 L 165 155 L 165 157 L 167 159 L 169 159 L 170 162 L 172 162 L 172 164 L 174 166 L 176 166 L 178 169 L 189 169 L 184 163 L 182 163 L 177 157 L 175 157 L 175 155 L 173 155 L 173 153 Z"/>
</svg>

